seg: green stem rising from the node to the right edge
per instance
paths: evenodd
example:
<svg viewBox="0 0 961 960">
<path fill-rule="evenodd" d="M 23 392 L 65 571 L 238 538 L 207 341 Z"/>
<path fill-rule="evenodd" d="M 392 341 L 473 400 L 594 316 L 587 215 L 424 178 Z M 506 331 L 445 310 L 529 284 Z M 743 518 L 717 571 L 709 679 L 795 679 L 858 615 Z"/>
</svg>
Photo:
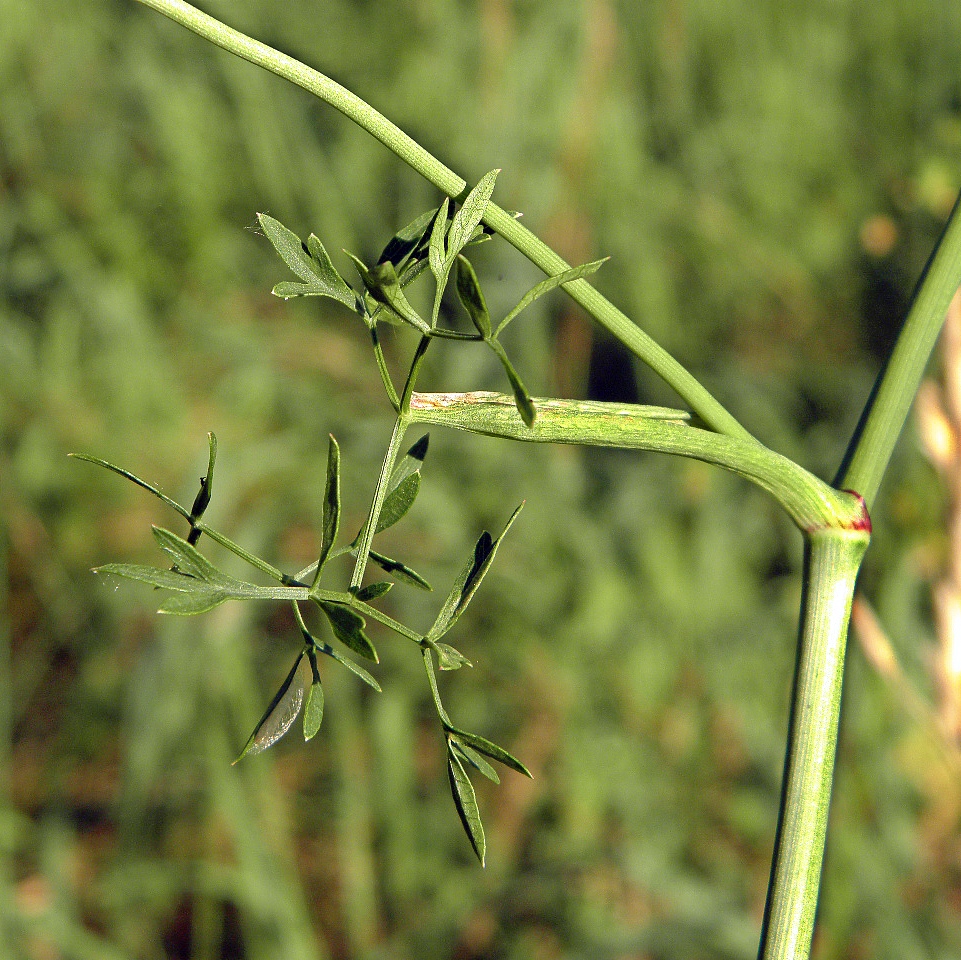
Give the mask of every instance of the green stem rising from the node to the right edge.
<svg viewBox="0 0 961 960">
<path fill-rule="evenodd" d="M 874 503 L 959 284 L 961 197 L 918 282 L 898 342 L 881 371 L 839 473 L 837 485 L 857 490 L 868 507 Z"/>
</svg>

